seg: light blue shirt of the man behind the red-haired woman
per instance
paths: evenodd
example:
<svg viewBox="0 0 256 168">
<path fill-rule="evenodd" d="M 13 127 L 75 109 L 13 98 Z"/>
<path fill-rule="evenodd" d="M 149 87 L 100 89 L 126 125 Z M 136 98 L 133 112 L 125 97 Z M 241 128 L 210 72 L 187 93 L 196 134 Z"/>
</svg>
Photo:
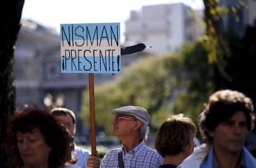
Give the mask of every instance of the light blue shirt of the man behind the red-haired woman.
<svg viewBox="0 0 256 168">
<path fill-rule="evenodd" d="M 77 162 L 75 164 L 81 168 L 87 168 L 87 159 L 90 154 L 90 151 L 75 145 L 74 156 L 77 158 Z"/>
</svg>

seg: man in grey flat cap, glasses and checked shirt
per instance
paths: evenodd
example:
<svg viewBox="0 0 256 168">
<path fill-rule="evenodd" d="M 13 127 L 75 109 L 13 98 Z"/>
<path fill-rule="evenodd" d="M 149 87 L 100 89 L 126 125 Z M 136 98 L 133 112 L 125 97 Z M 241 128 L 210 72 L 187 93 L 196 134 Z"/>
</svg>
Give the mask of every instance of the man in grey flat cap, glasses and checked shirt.
<svg viewBox="0 0 256 168">
<path fill-rule="evenodd" d="M 158 167 L 163 161 L 161 155 L 145 145 L 143 139 L 148 133 L 150 115 L 139 106 L 122 106 L 112 110 L 112 134 L 122 141 L 122 148 L 108 151 L 101 161 L 101 168 L 113 167 Z"/>
</svg>

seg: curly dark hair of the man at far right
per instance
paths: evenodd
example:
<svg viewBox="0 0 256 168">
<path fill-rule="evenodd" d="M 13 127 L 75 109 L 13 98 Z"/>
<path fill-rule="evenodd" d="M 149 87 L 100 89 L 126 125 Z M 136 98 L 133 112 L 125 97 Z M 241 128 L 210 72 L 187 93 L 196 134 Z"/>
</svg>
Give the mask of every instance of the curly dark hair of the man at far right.
<svg viewBox="0 0 256 168">
<path fill-rule="evenodd" d="M 252 100 L 236 90 L 219 90 L 210 95 L 208 103 L 200 114 L 199 128 L 203 142 L 212 143 L 208 131 L 215 130 L 218 124 L 228 121 L 234 113 L 242 111 L 245 114 L 247 130 L 254 128 L 254 106 Z"/>
</svg>

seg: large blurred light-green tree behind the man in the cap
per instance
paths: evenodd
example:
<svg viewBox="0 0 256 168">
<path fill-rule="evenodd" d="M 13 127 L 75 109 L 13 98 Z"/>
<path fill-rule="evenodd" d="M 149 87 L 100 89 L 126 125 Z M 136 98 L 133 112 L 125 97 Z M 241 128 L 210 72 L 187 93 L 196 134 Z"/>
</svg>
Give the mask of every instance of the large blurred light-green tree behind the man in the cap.
<svg viewBox="0 0 256 168">
<path fill-rule="evenodd" d="M 95 86 L 96 124 L 111 134 L 111 109 L 143 106 L 151 116 L 151 131 L 171 114 L 184 113 L 196 121 L 213 91 L 213 65 L 201 42 L 186 44 L 180 54 L 148 56 L 124 69 L 113 82 Z M 81 118 L 90 123 L 89 92 L 83 92 Z"/>
</svg>

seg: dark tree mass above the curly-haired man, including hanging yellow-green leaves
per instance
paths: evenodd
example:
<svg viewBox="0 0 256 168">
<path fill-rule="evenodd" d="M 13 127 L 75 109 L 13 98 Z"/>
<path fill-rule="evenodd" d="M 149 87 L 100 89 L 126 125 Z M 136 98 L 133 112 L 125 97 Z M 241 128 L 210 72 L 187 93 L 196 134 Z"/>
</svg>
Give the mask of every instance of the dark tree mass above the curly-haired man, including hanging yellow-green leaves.
<svg viewBox="0 0 256 168">
<path fill-rule="evenodd" d="M 238 1 L 238 5 L 230 8 L 217 6 L 216 0 L 203 2 L 207 25 L 202 38 L 205 51 L 201 44 L 192 44 L 194 47 L 190 46 L 190 50 L 184 53 L 184 71 L 187 72 L 190 83 L 187 92 L 177 97 L 173 109 L 174 113 L 187 111 L 194 121 L 202 111 L 203 103 L 208 100 L 208 95 L 215 90 L 238 90 L 256 102 L 255 82 L 248 75 L 255 71 L 255 27 L 247 28 L 245 36 L 239 38 L 237 34 L 225 32 L 218 26 L 223 14 L 229 12 L 237 18 L 236 8 L 245 7 L 244 2 Z"/>
</svg>

